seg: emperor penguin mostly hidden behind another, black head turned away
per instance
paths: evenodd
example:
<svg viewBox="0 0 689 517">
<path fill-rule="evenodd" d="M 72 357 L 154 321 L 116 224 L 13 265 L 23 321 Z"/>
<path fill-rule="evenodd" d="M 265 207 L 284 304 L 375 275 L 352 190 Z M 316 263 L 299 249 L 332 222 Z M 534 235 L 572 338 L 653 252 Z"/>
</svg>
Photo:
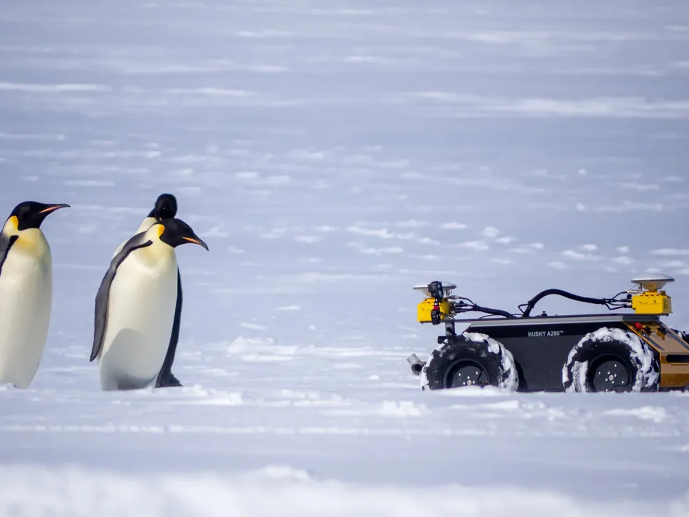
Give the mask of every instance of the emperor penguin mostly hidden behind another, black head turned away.
<svg viewBox="0 0 689 517">
<path fill-rule="evenodd" d="M 165 221 L 165 219 L 173 219 L 177 215 L 177 199 L 173 194 L 163 193 L 158 196 L 153 205 L 152 210 L 145 217 L 141 225 L 136 230 L 136 233 L 145 232 L 152 225 L 158 221 Z M 126 242 L 126 241 L 125 241 Z M 116 256 L 123 248 L 125 243 L 115 251 Z M 174 363 L 174 356 L 177 351 L 177 341 L 179 341 L 179 328 L 182 318 L 182 277 L 177 269 L 177 301 L 174 311 L 174 323 L 172 324 L 172 334 L 170 334 L 169 343 L 167 345 L 167 354 L 165 354 L 165 361 L 161 371 L 156 378 L 156 388 L 159 387 L 181 387 L 182 383 L 172 373 L 172 363 Z"/>
</svg>

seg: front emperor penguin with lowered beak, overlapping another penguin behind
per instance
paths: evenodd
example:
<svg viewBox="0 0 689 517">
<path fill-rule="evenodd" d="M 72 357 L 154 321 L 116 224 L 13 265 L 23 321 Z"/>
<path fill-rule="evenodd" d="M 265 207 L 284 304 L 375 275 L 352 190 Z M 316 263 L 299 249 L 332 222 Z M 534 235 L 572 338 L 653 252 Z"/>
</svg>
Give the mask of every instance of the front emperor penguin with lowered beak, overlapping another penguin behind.
<svg viewBox="0 0 689 517">
<path fill-rule="evenodd" d="M 204 243 L 187 223 L 163 219 L 129 239 L 96 294 L 90 361 L 99 359 L 105 391 L 156 382 L 167 353 L 178 293 L 175 248 Z"/>
</svg>

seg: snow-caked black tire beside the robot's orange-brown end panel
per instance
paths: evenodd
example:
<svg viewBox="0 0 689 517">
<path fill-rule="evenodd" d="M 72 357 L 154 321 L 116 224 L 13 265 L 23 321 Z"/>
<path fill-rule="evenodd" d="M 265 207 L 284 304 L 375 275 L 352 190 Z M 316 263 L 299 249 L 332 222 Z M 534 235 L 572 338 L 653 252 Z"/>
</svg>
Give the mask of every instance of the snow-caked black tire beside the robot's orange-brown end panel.
<svg viewBox="0 0 689 517">
<path fill-rule="evenodd" d="M 660 367 L 648 343 L 617 328 L 590 332 L 562 368 L 566 392 L 655 392 Z"/>
</svg>

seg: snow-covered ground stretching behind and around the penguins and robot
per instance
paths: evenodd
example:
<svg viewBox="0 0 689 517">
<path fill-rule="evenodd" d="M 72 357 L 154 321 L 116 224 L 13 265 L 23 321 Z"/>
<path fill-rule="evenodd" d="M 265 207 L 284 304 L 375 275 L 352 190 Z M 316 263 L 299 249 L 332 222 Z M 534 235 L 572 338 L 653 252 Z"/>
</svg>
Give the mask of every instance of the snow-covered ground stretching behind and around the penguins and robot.
<svg viewBox="0 0 689 517">
<path fill-rule="evenodd" d="M 684 0 L 3 5 L 0 207 L 72 208 L 0 513 L 688 515 L 686 394 L 422 392 L 405 360 L 438 278 L 515 311 L 660 271 L 689 328 L 688 41 Z M 165 191 L 210 247 L 178 252 L 185 387 L 103 393 L 94 296 Z"/>
</svg>

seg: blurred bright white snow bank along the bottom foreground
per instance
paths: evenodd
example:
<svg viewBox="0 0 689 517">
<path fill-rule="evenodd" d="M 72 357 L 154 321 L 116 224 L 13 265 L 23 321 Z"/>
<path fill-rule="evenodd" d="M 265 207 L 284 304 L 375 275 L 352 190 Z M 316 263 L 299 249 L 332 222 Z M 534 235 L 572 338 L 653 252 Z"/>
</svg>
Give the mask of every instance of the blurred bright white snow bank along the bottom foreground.
<svg viewBox="0 0 689 517">
<path fill-rule="evenodd" d="M 497 485 L 363 486 L 315 480 L 287 466 L 240 476 L 0 467 L 0 514 L 17 511 L 23 517 L 680 517 L 689 511 L 689 496 L 601 503 L 585 496 Z"/>
</svg>

